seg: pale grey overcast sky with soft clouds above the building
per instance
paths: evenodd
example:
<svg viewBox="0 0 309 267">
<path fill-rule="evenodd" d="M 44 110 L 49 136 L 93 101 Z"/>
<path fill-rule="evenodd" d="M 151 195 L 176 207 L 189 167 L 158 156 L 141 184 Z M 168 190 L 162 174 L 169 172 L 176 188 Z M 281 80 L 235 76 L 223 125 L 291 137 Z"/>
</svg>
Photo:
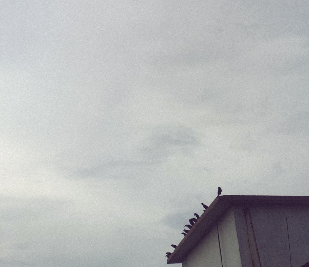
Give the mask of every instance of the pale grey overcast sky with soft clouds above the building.
<svg viewBox="0 0 309 267">
<path fill-rule="evenodd" d="M 164 267 L 218 186 L 308 195 L 308 13 L 2 0 L 0 265 Z"/>
</svg>

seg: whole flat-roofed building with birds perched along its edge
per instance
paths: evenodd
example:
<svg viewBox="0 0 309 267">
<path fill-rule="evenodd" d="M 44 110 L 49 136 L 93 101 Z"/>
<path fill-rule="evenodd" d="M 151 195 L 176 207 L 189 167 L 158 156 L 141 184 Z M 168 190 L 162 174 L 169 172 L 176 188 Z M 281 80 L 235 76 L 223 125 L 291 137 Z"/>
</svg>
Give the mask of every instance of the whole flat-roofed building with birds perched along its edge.
<svg viewBox="0 0 309 267">
<path fill-rule="evenodd" d="M 167 263 L 309 267 L 309 196 L 219 196 Z"/>
</svg>

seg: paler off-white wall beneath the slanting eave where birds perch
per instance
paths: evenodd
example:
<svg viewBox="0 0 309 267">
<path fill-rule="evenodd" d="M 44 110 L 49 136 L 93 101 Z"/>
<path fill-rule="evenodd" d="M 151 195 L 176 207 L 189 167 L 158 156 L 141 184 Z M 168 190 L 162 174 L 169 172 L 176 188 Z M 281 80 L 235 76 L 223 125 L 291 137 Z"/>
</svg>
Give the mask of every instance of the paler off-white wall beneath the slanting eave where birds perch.
<svg viewBox="0 0 309 267">
<path fill-rule="evenodd" d="M 222 262 L 224 267 L 241 266 L 233 210 L 228 210 L 218 222 Z M 217 226 L 214 225 L 200 243 L 188 254 L 182 267 L 221 266 Z"/>
</svg>

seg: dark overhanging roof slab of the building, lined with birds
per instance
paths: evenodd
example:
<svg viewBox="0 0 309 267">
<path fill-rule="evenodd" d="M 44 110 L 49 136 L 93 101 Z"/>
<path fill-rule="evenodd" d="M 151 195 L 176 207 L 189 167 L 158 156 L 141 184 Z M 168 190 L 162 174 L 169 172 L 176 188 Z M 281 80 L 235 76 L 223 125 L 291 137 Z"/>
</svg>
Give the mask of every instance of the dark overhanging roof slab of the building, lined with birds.
<svg viewBox="0 0 309 267">
<path fill-rule="evenodd" d="M 184 257 L 218 222 L 222 214 L 232 205 L 309 205 L 309 196 L 243 196 L 224 195 L 214 199 L 210 206 L 200 216 L 197 222 L 177 245 L 174 252 L 167 259 L 167 263 L 181 263 Z"/>
</svg>

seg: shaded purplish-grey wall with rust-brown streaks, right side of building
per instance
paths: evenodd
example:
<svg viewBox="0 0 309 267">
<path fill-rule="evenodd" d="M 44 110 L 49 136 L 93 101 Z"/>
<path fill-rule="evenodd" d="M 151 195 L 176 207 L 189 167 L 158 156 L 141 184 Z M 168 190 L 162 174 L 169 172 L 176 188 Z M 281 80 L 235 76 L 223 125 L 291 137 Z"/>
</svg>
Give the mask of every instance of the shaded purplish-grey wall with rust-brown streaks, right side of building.
<svg viewBox="0 0 309 267">
<path fill-rule="evenodd" d="M 250 267 L 252 264 L 244 208 L 235 208 L 235 221 L 242 266 Z M 250 207 L 250 213 L 263 267 L 290 267 L 286 218 L 289 226 L 292 267 L 299 267 L 309 261 L 309 207 L 256 206 Z"/>
</svg>

